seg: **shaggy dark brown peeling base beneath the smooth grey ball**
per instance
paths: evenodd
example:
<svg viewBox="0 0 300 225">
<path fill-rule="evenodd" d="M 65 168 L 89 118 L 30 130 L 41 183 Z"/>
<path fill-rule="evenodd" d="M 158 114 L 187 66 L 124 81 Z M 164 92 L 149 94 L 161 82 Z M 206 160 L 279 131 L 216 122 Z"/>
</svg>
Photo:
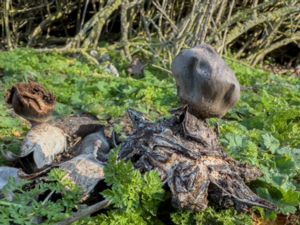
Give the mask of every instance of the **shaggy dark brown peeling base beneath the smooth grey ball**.
<svg viewBox="0 0 300 225">
<path fill-rule="evenodd" d="M 223 208 L 275 209 L 246 185 L 261 175 L 259 170 L 227 156 L 216 133 L 186 108 L 157 123 L 134 110 L 128 113 L 136 130 L 123 144 L 120 158 L 142 172 L 158 170 L 172 192 L 173 206 L 201 211 L 212 200 Z"/>
</svg>

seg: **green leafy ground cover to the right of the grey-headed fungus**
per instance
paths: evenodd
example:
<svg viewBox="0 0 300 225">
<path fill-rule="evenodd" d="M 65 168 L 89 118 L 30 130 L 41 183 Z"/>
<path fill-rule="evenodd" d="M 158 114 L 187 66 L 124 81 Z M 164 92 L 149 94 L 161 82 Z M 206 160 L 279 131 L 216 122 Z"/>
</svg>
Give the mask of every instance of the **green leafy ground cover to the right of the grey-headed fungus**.
<svg viewBox="0 0 300 225">
<path fill-rule="evenodd" d="M 289 215 L 300 207 L 300 82 L 231 64 L 246 90 L 229 120 L 220 120 L 229 154 L 260 168 L 251 187 Z M 259 210 L 268 218 L 276 213 Z"/>
</svg>

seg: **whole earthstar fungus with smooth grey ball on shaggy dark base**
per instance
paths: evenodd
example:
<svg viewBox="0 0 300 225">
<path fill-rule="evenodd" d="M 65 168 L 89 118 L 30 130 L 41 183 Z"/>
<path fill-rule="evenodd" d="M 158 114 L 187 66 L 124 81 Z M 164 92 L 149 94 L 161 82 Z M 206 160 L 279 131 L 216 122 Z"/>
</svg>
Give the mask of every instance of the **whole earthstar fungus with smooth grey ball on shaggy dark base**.
<svg viewBox="0 0 300 225">
<path fill-rule="evenodd" d="M 158 170 L 177 208 L 201 211 L 210 200 L 237 210 L 275 209 L 246 185 L 260 171 L 227 156 L 204 120 L 224 116 L 239 100 L 240 85 L 231 69 L 203 44 L 181 52 L 172 72 L 185 107 L 156 123 L 129 110 L 135 131 L 122 145 L 120 158 L 131 160 L 143 172 Z"/>
</svg>

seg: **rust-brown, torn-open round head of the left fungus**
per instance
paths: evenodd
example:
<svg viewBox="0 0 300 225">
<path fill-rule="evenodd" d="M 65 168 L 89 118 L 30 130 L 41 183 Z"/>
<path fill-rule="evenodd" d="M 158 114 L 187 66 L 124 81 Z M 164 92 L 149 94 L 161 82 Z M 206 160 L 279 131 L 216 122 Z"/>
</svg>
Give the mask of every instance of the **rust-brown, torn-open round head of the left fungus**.
<svg viewBox="0 0 300 225">
<path fill-rule="evenodd" d="M 45 122 L 54 111 L 55 97 L 38 83 L 19 83 L 11 88 L 6 102 L 23 118 L 34 123 Z"/>
</svg>

